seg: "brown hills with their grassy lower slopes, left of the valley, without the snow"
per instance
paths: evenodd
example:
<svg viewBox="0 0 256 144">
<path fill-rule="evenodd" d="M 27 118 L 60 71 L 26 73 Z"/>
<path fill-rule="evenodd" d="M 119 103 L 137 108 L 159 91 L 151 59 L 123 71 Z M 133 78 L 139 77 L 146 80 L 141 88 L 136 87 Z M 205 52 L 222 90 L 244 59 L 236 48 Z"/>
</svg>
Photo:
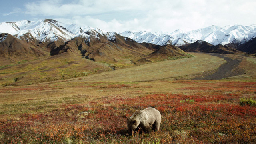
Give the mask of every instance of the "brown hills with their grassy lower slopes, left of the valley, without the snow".
<svg viewBox="0 0 256 144">
<path fill-rule="evenodd" d="M 30 34 L 26 36 L 30 37 Z M 50 43 L 1 34 L 0 50 L 2 62 L 13 64 L 0 67 L 2 86 L 68 79 L 130 67 L 134 63 L 188 57 L 186 52 L 173 45 L 139 44 L 116 33 L 100 34 L 95 30 L 86 31 L 67 42 Z M 26 63 L 17 64 L 21 60 Z"/>
</svg>

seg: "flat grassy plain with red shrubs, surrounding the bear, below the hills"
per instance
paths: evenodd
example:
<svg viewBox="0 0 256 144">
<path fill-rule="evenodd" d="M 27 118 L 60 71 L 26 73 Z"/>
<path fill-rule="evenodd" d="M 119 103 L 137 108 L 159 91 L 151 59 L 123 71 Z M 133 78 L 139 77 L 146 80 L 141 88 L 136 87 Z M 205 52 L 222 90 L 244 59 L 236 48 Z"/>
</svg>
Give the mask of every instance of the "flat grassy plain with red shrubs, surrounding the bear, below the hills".
<svg viewBox="0 0 256 144">
<path fill-rule="evenodd" d="M 256 99 L 255 58 L 244 59 L 241 67 L 246 74 L 242 76 L 170 79 L 171 70 L 182 79 L 224 62 L 217 57 L 211 57 L 216 58 L 212 62 L 218 61 L 212 65 L 207 57 L 196 60 L 203 55 L 182 59 L 184 63 L 174 60 L 173 67 L 165 65 L 168 61 L 158 63 L 163 64 L 160 67 L 156 63 L 151 68 L 138 66 L 139 73 L 134 67 L 112 74 L 1 87 L 0 143 L 256 143 L 256 107 L 240 104 L 241 98 Z M 198 72 L 193 72 L 194 67 Z M 141 70 L 159 72 L 140 80 Z M 108 78 L 100 82 L 104 76 Z M 127 117 L 150 106 L 162 114 L 160 131 L 128 135 Z"/>
</svg>

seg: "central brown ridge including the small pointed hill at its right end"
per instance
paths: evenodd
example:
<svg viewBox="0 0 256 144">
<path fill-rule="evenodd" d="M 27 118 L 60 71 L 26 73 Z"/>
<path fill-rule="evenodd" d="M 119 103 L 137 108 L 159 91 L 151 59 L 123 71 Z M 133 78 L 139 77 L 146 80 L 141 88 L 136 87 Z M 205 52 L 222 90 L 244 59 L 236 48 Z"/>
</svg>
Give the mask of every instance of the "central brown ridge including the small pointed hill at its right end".
<svg viewBox="0 0 256 144">
<path fill-rule="evenodd" d="M 95 30 L 84 33 L 86 38 L 76 37 L 51 51 L 51 55 L 72 51 L 84 58 L 111 64 L 115 68 L 188 57 L 186 52 L 173 45 L 159 46 L 139 44 L 119 34 L 100 34 Z M 83 35 L 83 34 L 82 34 Z"/>
</svg>

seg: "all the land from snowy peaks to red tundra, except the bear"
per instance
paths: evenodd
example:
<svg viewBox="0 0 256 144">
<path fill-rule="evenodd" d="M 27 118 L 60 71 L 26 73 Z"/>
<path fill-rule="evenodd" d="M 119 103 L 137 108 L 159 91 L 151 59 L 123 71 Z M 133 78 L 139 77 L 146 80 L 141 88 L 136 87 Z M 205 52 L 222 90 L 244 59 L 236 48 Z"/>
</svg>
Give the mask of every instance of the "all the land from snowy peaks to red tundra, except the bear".
<svg viewBox="0 0 256 144">
<path fill-rule="evenodd" d="M 255 25 L 104 32 L 0 24 L 0 143 L 256 143 Z M 160 131 L 128 134 L 154 107 Z"/>
</svg>

